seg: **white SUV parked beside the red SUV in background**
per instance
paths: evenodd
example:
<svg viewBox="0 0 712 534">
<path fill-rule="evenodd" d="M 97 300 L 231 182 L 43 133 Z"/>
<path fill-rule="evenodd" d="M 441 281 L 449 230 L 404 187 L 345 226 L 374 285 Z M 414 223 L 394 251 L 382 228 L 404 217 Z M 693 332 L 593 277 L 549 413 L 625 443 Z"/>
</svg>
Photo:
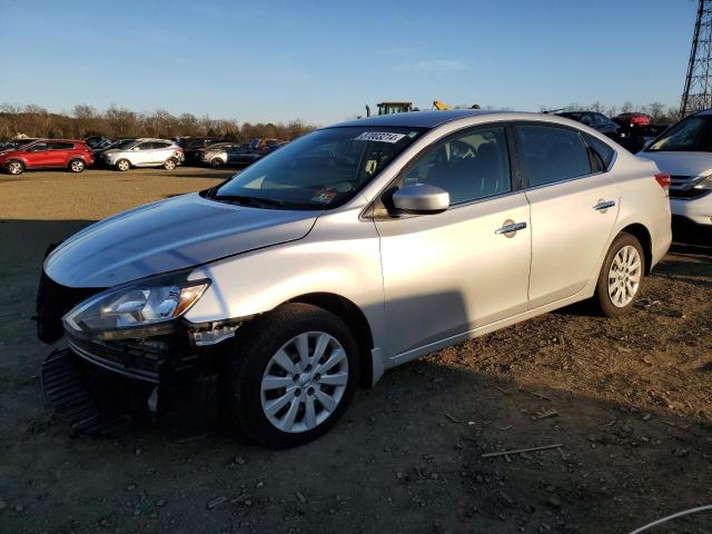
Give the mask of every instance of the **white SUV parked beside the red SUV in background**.
<svg viewBox="0 0 712 534">
<path fill-rule="evenodd" d="M 167 139 L 137 139 L 122 149 L 107 150 L 103 164 L 118 170 L 131 167 L 162 167 L 172 170 L 185 161 L 182 148 Z"/>
</svg>

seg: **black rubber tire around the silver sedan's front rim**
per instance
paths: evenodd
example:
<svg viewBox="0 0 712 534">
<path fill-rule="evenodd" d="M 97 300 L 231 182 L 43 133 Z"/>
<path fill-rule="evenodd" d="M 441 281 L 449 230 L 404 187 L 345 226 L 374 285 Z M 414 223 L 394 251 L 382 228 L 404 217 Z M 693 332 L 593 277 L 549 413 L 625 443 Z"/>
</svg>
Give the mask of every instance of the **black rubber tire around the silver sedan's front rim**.
<svg viewBox="0 0 712 534">
<path fill-rule="evenodd" d="M 358 383 L 358 348 L 342 319 L 316 306 L 290 303 L 258 316 L 238 332 L 235 354 L 229 360 L 228 398 L 233 419 L 249 437 L 267 447 L 295 447 L 316 439 L 336 424 Z M 323 423 L 300 433 L 288 433 L 267 418 L 261 405 L 261 379 L 277 350 L 308 332 L 326 333 L 342 345 L 348 363 L 348 382 L 337 407 Z"/>
</svg>

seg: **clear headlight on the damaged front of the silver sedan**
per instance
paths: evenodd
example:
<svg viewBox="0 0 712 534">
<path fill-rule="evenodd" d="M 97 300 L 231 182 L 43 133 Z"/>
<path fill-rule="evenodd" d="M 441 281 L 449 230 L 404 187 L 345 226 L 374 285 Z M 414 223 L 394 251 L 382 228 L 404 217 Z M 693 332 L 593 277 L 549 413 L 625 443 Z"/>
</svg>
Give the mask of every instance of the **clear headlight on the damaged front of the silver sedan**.
<svg viewBox="0 0 712 534">
<path fill-rule="evenodd" d="M 148 278 L 103 291 L 70 310 L 65 327 L 80 337 L 119 339 L 172 330 L 174 319 L 200 298 L 209 280 L 182 275 Z"/>
</svg>

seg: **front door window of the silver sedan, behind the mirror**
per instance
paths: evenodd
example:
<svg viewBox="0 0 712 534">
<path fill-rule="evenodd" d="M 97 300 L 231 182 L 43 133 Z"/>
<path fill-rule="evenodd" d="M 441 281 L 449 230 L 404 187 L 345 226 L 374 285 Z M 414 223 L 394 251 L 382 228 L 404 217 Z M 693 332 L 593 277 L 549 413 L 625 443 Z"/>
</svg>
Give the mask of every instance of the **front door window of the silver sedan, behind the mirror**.
<svg viewBox="0 0 712 534">
<path fill-rule="evenodd" d="M 478 128 L 439 141 L 406 170 L 404 185 L 429 184 L 461 204 L 512 190 L 504 127 Z"/>
</svg>

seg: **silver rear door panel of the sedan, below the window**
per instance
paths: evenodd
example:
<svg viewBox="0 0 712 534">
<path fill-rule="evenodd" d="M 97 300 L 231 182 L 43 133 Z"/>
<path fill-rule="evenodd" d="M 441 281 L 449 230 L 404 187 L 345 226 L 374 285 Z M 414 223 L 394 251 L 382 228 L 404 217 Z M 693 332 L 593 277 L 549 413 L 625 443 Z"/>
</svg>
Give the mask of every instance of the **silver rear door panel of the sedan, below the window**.
<svg viewBox="0 0 712 534">
<path fill-rule="evenodd" d="M 526 191 L 532 206 L 530 308 L 575 295 L 597 276 L 619 211 L 619 192 L 606 175 Z M 614 201 L 595 209 L 601 201 Z"/>
</svg>

